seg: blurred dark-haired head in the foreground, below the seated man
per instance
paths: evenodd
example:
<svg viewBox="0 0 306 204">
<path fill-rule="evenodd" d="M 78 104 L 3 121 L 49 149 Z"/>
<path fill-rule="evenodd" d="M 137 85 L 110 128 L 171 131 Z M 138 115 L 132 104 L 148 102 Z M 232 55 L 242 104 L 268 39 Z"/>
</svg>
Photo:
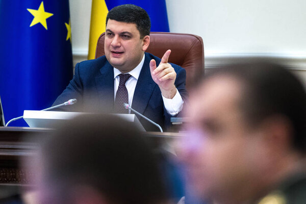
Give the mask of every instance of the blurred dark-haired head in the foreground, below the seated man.
<svg viewBox="0 0 306 204">
<path fill-rule="evenodd" d="M 169 203 L 144 136 L 115 116 L 68 121 L 41 142 L 34 158 L 28 168 L 37 203 Z"/>
</svg>

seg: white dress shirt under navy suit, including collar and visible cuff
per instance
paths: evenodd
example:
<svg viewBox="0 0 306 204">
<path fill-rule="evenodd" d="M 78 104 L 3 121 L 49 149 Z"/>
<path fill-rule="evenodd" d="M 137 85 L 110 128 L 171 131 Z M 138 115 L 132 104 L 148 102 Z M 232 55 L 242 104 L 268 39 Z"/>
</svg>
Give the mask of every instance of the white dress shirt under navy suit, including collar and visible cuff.
<svg viewBox="0 0 306 204">
<path fill-rule="evenodd" d="M 139 78 L 139 74 L 143 66 L 143 63 L 144 63 L 144 55 L 143 55 L 141 62 L 137 65 L 137 67 L 135 67 L 130 72 L 127 72 L 132 75 L 132 77 L 130 77 L 130 79 L 127 80 L 125 83 L 127 92 L 129 93 L 129 105 L 131 107 L 132 107 L 132 101 L 133 101 L 133 96 L 134 96 L 137 80 Z M 119 74 L 120 73 L 121 71 L 119 71 L 119 69 L 114 67 L 114 91 L 115 91 L 114 95 L 115 97 L 116 97 L 116 92 L 119 86 L 119 80 L 120 80 Z M 183 109 L 184 101 L 182 99 L 181 94 L 179 93 L 177 89 L 176 89 L 176 94 L 172 99 L 165 98 L 163 95 L 162 97 L 163 97 L 165 108 L 170 115 L 174 116 Z"/>
</svg>

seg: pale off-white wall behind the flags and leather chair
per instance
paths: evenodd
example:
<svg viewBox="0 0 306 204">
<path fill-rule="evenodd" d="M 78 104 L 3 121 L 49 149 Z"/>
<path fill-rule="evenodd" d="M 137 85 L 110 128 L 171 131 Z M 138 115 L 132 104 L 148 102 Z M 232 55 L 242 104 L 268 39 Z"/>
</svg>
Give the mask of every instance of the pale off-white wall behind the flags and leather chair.
<svg viewBox="0 0 306 204">
<path fill-rule="evenodd" d="M 87 58 L 91 1 L 69 3 L 76 63 Z M 288 65 L 306 82 L 305 0 L 166 0 L 166 4 L 171 32 L 203 38 L 207 69 L 259 57 Z"/>
</svg>

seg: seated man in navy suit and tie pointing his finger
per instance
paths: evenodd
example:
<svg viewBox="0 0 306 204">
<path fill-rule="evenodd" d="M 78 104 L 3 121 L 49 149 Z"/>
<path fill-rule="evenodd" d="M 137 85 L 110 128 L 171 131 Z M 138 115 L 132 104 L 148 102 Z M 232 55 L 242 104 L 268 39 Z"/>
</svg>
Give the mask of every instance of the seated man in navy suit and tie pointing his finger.
<svg viewBox="0 0 306 204">
<path fill-rule="evenodd" d="M 144 9 L 120 5 L 110 10 L 105 56 L 78 63 L 73 79 L 54 105 L 77 98 L 77 104 L 61 110 L 124 113 L 121 102 L 125 100 L 136 111 L 168 127 L 170 117 L 181 112 L 187 97 L 186 71 L 168 63 L 171 50 L 162 59 L 145 53 L 149 34 L 150 19 Z M 146 131 L 158 131 L 139 119 Z"/>
</svg>

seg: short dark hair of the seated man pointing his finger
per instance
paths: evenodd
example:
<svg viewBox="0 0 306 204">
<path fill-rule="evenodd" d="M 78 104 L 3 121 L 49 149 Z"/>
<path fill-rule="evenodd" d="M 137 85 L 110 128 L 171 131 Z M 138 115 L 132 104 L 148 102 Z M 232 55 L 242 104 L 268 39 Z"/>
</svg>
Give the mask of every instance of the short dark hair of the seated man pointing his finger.
<svg viewBox="0 0 306 204">
<path fill-rule="evenodd" d="M 112 8 L 106 17 L 106 24 L 109 19 L 119 22 L 135 23 L 140 33 L 140 38 L 150 35 L 151 21 L 147 12 L 136 5 L 124 4 Z"/>
</svg>

